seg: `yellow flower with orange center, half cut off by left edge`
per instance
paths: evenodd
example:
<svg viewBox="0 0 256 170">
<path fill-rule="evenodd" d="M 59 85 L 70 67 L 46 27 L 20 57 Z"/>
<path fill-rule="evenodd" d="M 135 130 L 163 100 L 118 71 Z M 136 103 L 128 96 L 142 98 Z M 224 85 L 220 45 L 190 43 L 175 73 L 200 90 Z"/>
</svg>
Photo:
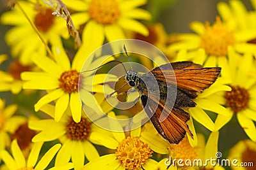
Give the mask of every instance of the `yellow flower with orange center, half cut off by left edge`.
<svg viewBox="0 0 256 170">
<path fill-rule="evenodd" d="M 26 122 L 25 117 L 13 116 L 17 110 L 16 104 L 11 104 L 4 108 L 5 102 L 0 99 L 0 150 L 10 146 L 10 136 L 13 134 L 19 125 Z"/>
</svg>

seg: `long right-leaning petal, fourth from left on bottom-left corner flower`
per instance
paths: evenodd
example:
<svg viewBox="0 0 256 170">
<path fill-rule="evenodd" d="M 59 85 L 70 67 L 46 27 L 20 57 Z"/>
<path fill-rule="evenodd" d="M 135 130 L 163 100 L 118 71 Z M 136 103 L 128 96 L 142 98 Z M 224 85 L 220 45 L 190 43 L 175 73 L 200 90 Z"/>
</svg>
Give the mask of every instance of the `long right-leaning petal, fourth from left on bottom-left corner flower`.
<svg viewBox="0 0 256 170">
<path fill-rule="evenodd" d="M 52 146 L 51 149 L 49 149 L 45 153 L 45 155 L 42 157 L 42 159 L 39 160 L 38 164 L 36 164 L 35 170 L 45 169 L 45 167 L 47 167 L 49 165 L 49 163 L 53 159 L 54 155 L 56 155 L 56 153 L 58 152 L 58 150 L 60 150 L 60 148 L 61 148 L 60 143 Z"/>
</svg>

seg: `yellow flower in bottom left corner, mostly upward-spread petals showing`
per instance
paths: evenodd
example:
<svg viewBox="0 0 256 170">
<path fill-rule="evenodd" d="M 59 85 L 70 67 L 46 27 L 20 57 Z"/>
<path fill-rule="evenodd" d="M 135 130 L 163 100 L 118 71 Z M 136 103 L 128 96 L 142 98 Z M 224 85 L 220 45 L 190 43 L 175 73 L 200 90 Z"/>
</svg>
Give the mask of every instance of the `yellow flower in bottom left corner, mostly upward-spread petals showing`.
<svg viewBox="0 0 256 170">
<path fill-rule="evenodd" d="M 54 158 L 54 155 L 60 150 L 61 145 L 56 144 L 50 148 L 45 155 L 38 161 L 38 156 L 42 148 L 43 142 L 38 142 L 33 145 L 31 152 L 29 153 L 28 160 L 25 159 L 22 154 L 17 140 L 13 140 L 11 144 L 12 155 L 6 150 L 0 151 L 0 157 L 3 159 L 4 163 L 8 169 L 45 169 L 51 160 Z M 36 162 L 38 163 L 36 164 Z M 61 166 L 54 166 L 51 169 L 72 169 L 74 166 L 72 163 L 62 164 Z"/>
</svg>

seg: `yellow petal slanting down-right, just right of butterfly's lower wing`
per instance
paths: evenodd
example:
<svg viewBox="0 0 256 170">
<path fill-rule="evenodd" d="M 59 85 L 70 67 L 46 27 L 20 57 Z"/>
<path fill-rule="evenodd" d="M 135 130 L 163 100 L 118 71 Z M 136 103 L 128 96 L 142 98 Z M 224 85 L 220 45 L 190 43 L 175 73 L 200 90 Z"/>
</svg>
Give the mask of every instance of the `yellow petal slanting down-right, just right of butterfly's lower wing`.
<svg viewBox="0 0 256 170">
<path fill-rule="evenodd" d="M 189 108 L 191 116 L 200 124 L 204 125 L 210 131 L 214 131 L 215 125 L 211 118 L 200 107 Z"/>
</svg>

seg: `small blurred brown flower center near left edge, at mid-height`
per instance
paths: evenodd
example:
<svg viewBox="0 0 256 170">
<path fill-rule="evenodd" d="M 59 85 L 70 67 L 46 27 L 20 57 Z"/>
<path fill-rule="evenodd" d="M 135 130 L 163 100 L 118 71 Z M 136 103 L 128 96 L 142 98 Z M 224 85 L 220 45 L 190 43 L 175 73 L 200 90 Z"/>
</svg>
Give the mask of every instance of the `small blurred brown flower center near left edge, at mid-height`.
<svg viewBox="0 0 256 170">
<path fill-rule="evenodd" d="M 20 80 L 20 74 L 24 71 L 31 71 L 31 66 L 23 66 L 18 61 L 12 62 L 8 70 L 16 80 Z"/>
</svg>

